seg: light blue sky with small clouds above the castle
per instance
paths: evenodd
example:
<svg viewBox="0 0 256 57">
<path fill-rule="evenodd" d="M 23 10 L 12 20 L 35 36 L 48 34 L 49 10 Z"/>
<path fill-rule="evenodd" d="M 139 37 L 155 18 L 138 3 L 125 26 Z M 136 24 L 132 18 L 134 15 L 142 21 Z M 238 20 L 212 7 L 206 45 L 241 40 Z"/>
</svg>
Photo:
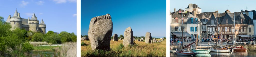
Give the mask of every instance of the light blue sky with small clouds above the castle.
<svg viewBox="0 0 256 57">
<path fill-rule="evenodd" d="M 31 18 L 35 12 L 40 22 L 43 18 L 46 31 L 67 31 L 77 34 L 76 2 L 76 0 L 1 0 L 0 16 L 6 21 L 9 15 L 13 16 L 16 8 L 22 18 Z"/>
</svg>

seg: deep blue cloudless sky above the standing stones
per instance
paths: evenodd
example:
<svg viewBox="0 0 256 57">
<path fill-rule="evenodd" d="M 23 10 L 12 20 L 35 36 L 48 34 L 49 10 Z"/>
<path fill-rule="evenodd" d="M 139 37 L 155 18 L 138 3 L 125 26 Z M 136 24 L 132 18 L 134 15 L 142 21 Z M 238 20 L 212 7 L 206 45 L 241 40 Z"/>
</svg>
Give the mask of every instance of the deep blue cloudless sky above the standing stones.
<svg viewBox="0 0 256 57">
<path fill-rule="evenodd" d="M 131 27 L 134 36 L 166 36 L 165 0 L 82 0 L 81 34 L 88 35 L 92 17 L 109 13 L 113 22 L 113 34 L 124 35 Z"/>
</svg>

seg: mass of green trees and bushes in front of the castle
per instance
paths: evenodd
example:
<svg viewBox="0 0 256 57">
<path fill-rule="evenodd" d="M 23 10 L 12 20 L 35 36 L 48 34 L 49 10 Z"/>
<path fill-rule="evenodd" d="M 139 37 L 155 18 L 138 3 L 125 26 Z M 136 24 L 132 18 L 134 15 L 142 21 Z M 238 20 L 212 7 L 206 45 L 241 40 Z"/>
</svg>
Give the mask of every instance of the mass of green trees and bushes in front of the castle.
<svg viewBox="0 0 256 57">
<path fill-rule="evenodd" d="M 76 42 L 76 35 L 62 31 L 59 34 L 53 31 L 43 34 L 41 32 L 26 31 L 25 29 L 15 28 L 4 21 L 0 16 L 0 57 L 18 56 L 27 57 L 29 51 L 49 50 L 56 46 L 38 46 L 42 44 L 64 44 Z M 76 50 L 73 50 L 76 51 Z"/>
</svg>

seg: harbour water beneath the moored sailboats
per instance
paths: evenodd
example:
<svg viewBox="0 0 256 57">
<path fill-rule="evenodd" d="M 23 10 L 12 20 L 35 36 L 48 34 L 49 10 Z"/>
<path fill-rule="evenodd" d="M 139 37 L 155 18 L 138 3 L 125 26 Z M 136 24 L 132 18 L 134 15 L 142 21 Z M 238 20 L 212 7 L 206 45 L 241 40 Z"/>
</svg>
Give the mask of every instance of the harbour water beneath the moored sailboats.
<svg viewBox="0 0 256 57">
<path fill-rule="evenodd" d="M 221 52 L 210 52 L 210 53 L 199 53 L 196 56 L 183 56 L 170 53 L 170 57 L 256 57 L 256 51 L 243 51 L 234 53 L 221 53 Z"/>
</svg>

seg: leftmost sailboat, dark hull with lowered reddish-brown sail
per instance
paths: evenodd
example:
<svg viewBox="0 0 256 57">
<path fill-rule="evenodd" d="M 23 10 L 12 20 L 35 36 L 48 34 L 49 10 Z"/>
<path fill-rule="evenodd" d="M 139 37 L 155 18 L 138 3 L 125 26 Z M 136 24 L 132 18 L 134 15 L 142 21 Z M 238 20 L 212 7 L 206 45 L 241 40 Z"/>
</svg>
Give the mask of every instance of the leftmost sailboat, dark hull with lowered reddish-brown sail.
<svg viewBox="0 0 256 57">
<path fill-rule="evenodd" d="M 182 13 L 182 21 L 183 21 L 183 13 Z M 182 22 L 182 26 L 183 26 L 183 22 Z M 196 54 L 199 54 L 198 52 L 191 52 L 191 51 L 187 51 L 187 50 L 184 50 L 184 48 L 186 48 L 186 47 L 188 47 L 188 46 L 190 46 L 190 45 L 192 45 L 192 44 L 194 44 L 195 42 L 193 42 L 193 43 L 191 43 L 191 44 L 189 44 L 189 45 L 187 45 L 187 46 L 185 46 L 185 47 L 183 47 L 183 44 L 184 44 L 184 39 L 183 39 L 183 28 L 182 28 L 182 49 L 176 49 L 176 54 L 177 55 L 196 55 Z"/>
</svg>

